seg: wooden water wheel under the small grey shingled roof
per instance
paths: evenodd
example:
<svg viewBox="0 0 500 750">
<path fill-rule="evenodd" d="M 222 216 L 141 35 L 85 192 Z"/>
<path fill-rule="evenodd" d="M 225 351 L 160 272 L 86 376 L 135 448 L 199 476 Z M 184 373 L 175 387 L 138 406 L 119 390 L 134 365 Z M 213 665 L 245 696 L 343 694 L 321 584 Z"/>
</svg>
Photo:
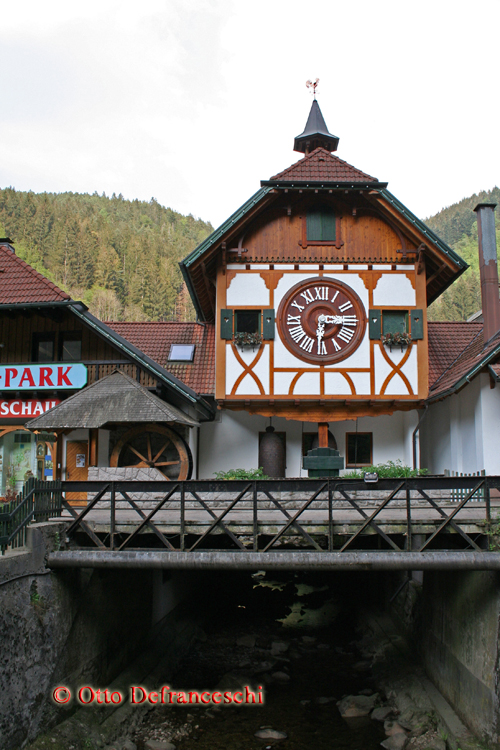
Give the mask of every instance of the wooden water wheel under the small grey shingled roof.
<svg viewBox="0 0 500 750">
<path fill-rule="evenodd" d="M 193 468 L 186 441 L 169 427 L 145 424 L 132 427 L 115 445 L 110 466 L 154 468 L 165 479 L 189 479 Z"/>
</svg>

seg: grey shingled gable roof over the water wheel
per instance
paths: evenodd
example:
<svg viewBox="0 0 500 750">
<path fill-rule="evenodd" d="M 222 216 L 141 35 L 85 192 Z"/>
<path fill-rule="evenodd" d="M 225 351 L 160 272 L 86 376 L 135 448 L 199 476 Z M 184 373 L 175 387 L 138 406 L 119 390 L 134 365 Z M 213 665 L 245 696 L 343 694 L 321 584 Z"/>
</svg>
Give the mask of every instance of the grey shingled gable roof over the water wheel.
<svg viewBox="0 0 500 750">
<path fill-rule="evenodd" d="M 189 427 L 198 424 L 116 370 L 27 422 L 26 427 L 29 430 L 97 429 L 108 423 L 130 422 L 174 422 Z"/>
</svg>

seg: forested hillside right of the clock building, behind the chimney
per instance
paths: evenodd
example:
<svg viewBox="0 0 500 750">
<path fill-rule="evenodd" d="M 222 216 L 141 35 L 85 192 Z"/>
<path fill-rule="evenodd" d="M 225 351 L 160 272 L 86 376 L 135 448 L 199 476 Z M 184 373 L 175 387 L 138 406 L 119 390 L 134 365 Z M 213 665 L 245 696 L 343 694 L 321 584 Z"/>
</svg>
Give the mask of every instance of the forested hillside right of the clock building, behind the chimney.
<svg viewBox="0 0 500 750">
<path fill-rule="evenodd" d="M 467 320 L 481 309 L 477 221 L 474 208 L 478 203 L 500 204 L 500 188 L 464 198 L 425 223 L 450 245 L 470 266 L 462 276 L 429 307 L 429 320 Z M 497 215 L 497 245 L 500 246 L 500 212 Z"/>
</svg>

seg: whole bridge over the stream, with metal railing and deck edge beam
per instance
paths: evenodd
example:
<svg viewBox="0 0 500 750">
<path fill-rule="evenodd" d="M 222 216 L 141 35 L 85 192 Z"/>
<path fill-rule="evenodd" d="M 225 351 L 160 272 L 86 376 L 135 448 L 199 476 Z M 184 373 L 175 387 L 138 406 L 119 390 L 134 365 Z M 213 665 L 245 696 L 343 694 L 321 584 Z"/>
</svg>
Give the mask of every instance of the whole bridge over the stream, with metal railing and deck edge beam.
<svg viewBox="0 0 500 750">
<path fill-rule="evenodd" d="M 0 514 L 3 548 L 7 516 L 22 516 L 18 536 L 29 521 L 67 521 L 52 568 L 500 568 L 499 476 L 31 480 L 16 502 Z"/>
</svg>

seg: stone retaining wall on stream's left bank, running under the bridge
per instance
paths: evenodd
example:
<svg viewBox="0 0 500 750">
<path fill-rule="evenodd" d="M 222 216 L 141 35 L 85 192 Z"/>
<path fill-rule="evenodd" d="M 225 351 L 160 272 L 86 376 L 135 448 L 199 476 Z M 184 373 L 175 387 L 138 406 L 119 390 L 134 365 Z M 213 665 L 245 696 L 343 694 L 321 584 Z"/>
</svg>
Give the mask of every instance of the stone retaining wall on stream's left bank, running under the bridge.
<svg viewBox="0 0 500 750">
<path fill-rule="evenodd" d="M 189 591 L 161 571 L 48 571 L 45 555 L 64 530 L 36 524 L 29 550 L 0 557 L 2 750 L 68 715 L 51 701 L 56 686 L 109 684 Z"/>
</svg>

